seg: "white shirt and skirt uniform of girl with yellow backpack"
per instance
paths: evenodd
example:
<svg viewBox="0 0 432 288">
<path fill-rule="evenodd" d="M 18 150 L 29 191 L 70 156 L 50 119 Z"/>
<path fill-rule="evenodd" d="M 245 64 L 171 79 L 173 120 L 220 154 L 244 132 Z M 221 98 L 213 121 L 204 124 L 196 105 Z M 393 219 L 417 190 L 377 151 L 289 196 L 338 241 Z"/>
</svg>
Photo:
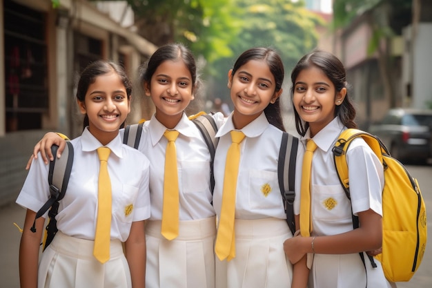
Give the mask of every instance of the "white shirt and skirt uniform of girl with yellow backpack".
<svg viewBox="0 0 432 288">
<path fill-rule="evenodd" d="M 351 202 L 348 200 L 333 165 L 332 148 L 346 127 L 336 117 L 324 127 L 313 141 L 317 149 L 311 169 L 311 236 L 328 236 L 353 230 L 352 213 L 372 209 L 382 215 L 384 173 L 380 160 L 364 140 L 351 142 L 346 152 L 349 168 Z M 302 137 L 310 138 L 309 132 Z M 352 207 L 352 210 L 351 210 Z M 300 213 L 300 193 L 295 197 L 295 214 Z M 309 273 L 309 288 L 391 287 L 384 277 L 380 262 L 377 268 L 364 253 L 367 277 L 359 253 L 326 255 L 315 253 Z"/>
</svg>

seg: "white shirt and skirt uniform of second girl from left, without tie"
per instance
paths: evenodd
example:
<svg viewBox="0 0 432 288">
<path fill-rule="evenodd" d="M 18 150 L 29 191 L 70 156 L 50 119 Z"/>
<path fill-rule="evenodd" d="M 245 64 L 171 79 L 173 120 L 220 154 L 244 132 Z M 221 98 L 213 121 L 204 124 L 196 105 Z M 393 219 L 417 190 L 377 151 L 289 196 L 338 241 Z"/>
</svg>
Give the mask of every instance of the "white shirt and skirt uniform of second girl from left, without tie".
<svg viewBox="0 0 432 288">
<path fill-rule="evenodd" d="M 215 115 L 224 121 L 222 113 Z M 150 160 L 151 217 L 146 224 L 146 287 L 215 287 L 215 210 L 210 191 L 210 153 L 197 126 L 183 114 L 174 128 L 179 180 L 179 236 L 161 235 L 166 127 L 153 115 L 144 123 L 139 151 Z"/>
</svg>

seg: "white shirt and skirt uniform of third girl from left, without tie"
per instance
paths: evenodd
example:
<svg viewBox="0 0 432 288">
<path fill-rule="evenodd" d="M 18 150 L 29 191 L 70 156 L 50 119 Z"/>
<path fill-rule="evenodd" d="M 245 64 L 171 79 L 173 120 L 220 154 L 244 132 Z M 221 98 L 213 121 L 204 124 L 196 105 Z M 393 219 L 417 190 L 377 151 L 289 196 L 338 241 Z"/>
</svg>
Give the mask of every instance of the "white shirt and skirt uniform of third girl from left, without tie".
<svg viewBox="0 0 432 288">
<path fill-rule="evenodd" d="M 216 135 L 219 144 L 214 165 L 213 205 L 218 218 L 230 131 L 235 130 L 232 117 L 233 114 Z M 235 195 L 235 258 L 220 261 L 216 257 L 217 287 L 290 287 L 292 266 L 285 256 L 283 243 L 292 233 L 286 224 L 277 177 L 282 131 L 269 124 L 264 113 L 241 131 L 246 137 L 240 143 Z M 297 164 L 301 166 L 299 157 Z"/>
</svg>

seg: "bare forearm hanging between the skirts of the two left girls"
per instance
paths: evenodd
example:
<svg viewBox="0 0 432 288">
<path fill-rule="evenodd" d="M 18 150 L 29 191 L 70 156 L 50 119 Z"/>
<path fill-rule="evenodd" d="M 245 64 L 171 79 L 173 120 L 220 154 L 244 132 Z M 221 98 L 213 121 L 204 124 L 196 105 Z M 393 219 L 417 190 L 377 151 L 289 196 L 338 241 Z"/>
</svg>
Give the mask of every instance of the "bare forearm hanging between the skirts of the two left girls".
<svg viewBox="0 0 432 288">
<path fill-rule="evenodd" d="M 130 269 L 133 288 L 146 287 L 146 234 L 145 221 L 132 222 L 125 242 L 126 260 Z"/>
</svg>

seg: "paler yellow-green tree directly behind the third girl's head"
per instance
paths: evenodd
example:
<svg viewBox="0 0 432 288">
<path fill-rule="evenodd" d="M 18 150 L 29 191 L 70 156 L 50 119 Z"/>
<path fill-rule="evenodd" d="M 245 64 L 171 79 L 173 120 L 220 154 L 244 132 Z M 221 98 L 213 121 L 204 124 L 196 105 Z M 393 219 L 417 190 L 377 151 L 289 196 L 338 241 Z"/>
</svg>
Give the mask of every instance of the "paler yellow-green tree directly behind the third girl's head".
<svg viewBox="0 0 432 288">
<path fill-rule="evenodd" d="M 234 57 L 219 58 L 213 63 L 208 75 L 212 75 L 214 95 L 226 99 L 227 73 L 235 58 L 254 46 L 271 46 L 281 55 L 286 73 L 306 52 L 317 46 L 315 27 L 324 25 L 323 19 L 306 10 L 304 3 L 286 0 L 234 0 L 237 8 L 231 12 L 240 31 L 228 45 Z M 211 83 L 210 83 L 211 84 Z"/>
</svg>

